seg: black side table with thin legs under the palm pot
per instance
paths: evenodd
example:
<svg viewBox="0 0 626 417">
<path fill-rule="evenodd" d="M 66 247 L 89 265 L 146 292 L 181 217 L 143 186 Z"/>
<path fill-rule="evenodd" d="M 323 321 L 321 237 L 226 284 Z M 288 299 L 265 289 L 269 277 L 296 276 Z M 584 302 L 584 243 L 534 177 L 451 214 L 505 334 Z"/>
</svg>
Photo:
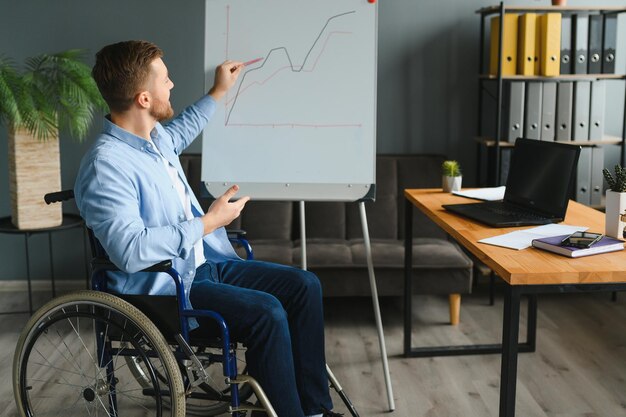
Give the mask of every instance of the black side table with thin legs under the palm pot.
<svg viewBox="0 0 626 417">
<path fill-rule="evenodd" d="M 28 283 L 28 311 L 5 311 L 0 312 L 0 314 L 33 314 L 33 295 L 32 295 L 32 285 L 31 285 L 31 277 L 30 277 L 30 249 L 28 245 L 28 241 L 31 236 L 45 233 L 48 235 L 48 259 L 50 262 L 50 280 L 52 286 L 52 297 L 56 297 L 56 285 L 55 285 L 55 277 L 54 277 L 54 262 L 53 262 L 53 250 L 52 250 L 52 234 L 55 232 L 60 232 L 64 230 L 81 228 L 83 229 L 83 254 L 84 259 L 87 259 L 87 240 L 84 233 L 85 222 L 82 217 L 77 214 L 64 213 L 63 214 L 63 223 L 60 226 L 56 227 L 48 227 L 44 229 L 31 229 L 31 230 L 19 230 L 16 228 L 13 223 L 11 223 L 11 217 L 1 217 L 0 218 L 0 234 L 19 234 L 24 236 L 24 249 L 26 253 L 26 279 Z M 89 269 L 87 267 L 87 261 L 84 262 L 85 268 L 85 276 L 87 277 L 87 283 L 89 283 Z"/>
</svg>

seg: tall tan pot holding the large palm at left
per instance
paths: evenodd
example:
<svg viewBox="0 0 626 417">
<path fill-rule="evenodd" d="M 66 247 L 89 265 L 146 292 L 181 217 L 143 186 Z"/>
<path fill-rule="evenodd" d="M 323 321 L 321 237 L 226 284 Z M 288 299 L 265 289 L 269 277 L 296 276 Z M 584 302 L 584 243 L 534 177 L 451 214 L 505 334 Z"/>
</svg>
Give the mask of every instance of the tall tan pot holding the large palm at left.
<svg viewBox="0 0 626 417">
<path fill-rule="evenodd" d="M 20 230 L 59 226 L 61 204 L 46 204 L 46 193 L 61 190 L 59 137 L 40 141 L 26 131 L 9 132 L 11 221 Z"/>
</svg>

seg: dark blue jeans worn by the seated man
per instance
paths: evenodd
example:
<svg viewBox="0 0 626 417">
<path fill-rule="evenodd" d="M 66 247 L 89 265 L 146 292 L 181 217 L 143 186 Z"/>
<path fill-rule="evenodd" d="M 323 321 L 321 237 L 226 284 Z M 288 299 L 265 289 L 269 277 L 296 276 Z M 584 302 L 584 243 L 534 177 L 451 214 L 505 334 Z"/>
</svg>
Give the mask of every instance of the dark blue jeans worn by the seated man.
<svg viewBox="0 0 626 417">
<path fill-rule="evenodd" d="M 248 372 L 279 417 L 332 409 L 315 274 L 262 261 L 205 263 L 190 300 L 193 308 L 220 313 L 232 339 L 246 345 Z"/>
</svg>

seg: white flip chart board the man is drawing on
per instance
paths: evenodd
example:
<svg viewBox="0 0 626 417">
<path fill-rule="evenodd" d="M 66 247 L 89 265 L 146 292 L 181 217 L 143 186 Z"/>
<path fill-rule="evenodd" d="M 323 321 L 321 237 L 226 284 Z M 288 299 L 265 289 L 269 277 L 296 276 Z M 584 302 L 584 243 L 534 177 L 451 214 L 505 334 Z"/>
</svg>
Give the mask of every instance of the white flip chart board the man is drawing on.
<svg viewBox="0 0 626 417">
<path fill-rule="evenodd" d="M 203 132 L 202 181 L 259 200 L 371 197 L 377 4 L 206 0 L 205 72 L 252 62 Z"/>
</svg>

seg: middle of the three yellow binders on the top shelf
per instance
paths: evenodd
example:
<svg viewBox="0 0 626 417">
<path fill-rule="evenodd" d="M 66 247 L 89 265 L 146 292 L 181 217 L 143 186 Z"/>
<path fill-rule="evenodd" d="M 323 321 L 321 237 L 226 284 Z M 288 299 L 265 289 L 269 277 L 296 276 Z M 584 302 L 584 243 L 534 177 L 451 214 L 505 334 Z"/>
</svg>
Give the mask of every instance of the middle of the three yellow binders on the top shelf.
<svg viewBox="0 0 626 417">
<path fill-rule="evenodd" d="M 517 73 L 539 75 L 539 52 L 541 31 L 537 24 L 537 14 L 526 13 L 519 17 L 517 43 Z"/>
</svg>

